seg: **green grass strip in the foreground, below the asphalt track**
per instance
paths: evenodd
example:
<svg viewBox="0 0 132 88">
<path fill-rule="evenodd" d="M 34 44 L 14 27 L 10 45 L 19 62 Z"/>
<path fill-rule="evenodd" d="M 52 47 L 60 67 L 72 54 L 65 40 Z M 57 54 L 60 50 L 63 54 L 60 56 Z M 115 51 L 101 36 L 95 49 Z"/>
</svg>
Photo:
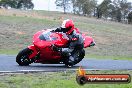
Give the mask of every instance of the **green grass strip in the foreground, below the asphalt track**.
<svg viewBox="0 0 132 88">
<path fill-rule="evenodd" d="M 87 71 L 88 74 L 130 74 L 131 71 Z M 0 88 L 131 88 L 129 84 L 85 84 L 76 82 L 76 72 L 47 72 L 0 76 Z"/>
</svg>

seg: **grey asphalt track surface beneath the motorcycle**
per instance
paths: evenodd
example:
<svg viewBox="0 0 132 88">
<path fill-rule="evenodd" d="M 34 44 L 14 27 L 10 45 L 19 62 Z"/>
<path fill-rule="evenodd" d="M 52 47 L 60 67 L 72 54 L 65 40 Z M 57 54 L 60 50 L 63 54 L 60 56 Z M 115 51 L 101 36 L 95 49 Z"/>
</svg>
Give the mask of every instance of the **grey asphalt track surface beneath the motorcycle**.
<svg viewBox="0 0 132 88">
<path fill-rule="evenodd" d="M 63 71 L 76 70 L 82 66 L 87 70 L 132 70 L 132 61 L 130 60 L 97 60 L 84 59 L 73 68 L 66 68 L 63 64 L 39 64 L 33 63 L 30 66 L 19 66 L 15 61 L 16 56 L 0 55 L 0 72 L 17 71 Z"/>
</svg>

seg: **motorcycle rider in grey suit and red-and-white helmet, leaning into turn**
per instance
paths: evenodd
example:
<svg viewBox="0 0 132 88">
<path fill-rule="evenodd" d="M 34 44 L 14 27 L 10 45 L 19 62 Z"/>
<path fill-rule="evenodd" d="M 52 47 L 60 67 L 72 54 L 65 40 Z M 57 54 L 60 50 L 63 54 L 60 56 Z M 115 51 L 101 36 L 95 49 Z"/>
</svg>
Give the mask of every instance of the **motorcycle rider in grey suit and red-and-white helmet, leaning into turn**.
<svg viewBox="0 0 132 88">
<path fill-rule="evenodd" d="M 55 32 L 63 32 L 66 33 L 67 37 L 69 38 L 69 46 L 67 48 L 58 48 L 56 46 L 53 47 L 55 51 L 60 51 L 64 57 L 68 57 L 68 63 L 73 64 L 75 60 L 71 53 L 74 50 L 82 50 L 84 48 L 84 40 L 82 35 L 79 33 L 79 30 L 74 27 L 74 23 L 72 20 L 64 20 L 62 22 L 62 26 L 55 29 Z"/>
</svg>

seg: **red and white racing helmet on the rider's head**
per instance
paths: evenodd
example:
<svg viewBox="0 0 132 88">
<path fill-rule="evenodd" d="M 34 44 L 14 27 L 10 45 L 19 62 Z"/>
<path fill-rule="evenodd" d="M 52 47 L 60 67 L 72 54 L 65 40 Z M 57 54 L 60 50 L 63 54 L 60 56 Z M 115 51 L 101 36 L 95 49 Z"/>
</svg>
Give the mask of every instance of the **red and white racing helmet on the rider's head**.
<svg viewBox="0 0 132 88">
<path fill-rule="evenodd" d="M 66 34 L 71 34 L 74 30 L 74 23 L 72 20 L 67 19 L 62 22 L 61 28 Z"/>
</svg>

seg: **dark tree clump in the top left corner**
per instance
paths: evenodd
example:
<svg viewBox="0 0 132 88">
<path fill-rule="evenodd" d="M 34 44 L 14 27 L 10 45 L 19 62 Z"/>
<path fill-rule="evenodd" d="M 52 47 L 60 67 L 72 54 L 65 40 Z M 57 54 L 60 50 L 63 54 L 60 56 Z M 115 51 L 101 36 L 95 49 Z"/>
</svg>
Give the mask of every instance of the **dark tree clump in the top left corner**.
<svg viewBox="0 0 132 88">
<path fill-rule="evenodd" d="M 1 8 L 33 9 L 32 0 L 0 0 Z"/>
</svg>

